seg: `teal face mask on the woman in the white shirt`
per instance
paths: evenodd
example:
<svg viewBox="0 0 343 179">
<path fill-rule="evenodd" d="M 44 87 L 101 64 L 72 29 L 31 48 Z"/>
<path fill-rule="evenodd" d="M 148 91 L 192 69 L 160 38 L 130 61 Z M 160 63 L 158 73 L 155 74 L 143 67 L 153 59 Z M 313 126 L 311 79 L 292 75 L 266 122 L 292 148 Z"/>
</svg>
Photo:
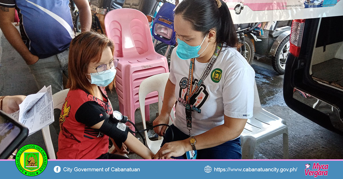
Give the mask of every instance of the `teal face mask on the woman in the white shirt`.
<svg viewBox="0 0 343 179">
<path fill-rule="evenodd" d="M 206 50 L 206 48 L 210 44 L 210 42 L 209 42 L 207 44 L 206 48 L 200 54 L 198 54 L 199 50 L 201 49 L 201 45 L 202 45 L 202 43 L 204 43 L 206 37 L 207 37 L 207 35 L 202 40 L 200 46 L 190 46 L 186 42 L 184 42 L 184 41 L 180 40 L 179 38 L 177 38 L 178 46 L 177 46 L 177 49 L 176 49 L 176 55 L 180 59 L 182 59 L 182 60 L 188 60 L 188 59 L 199 57 Z"/>
</svg>

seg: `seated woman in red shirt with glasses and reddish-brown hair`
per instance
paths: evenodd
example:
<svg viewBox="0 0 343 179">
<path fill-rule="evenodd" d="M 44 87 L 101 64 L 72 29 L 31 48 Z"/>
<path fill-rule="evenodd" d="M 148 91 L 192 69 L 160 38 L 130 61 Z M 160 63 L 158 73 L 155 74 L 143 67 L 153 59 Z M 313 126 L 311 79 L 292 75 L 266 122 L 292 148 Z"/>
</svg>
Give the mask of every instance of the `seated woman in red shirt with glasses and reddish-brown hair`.
<svg viewBox="0 0 343 179">
<path fill-rule="evenodd" d="M 108 153 L 109 137 L 119 149 L 124 143 L 144 159 L 154 155 L 112 116 L 105 87 L 114 86 L 118 59 L 113 53 L 113 42 L 102 34 L 85 32 L 71 41 L 70 90 L 59 118 L 58 159 L 128 159 Z"/>
</svg>

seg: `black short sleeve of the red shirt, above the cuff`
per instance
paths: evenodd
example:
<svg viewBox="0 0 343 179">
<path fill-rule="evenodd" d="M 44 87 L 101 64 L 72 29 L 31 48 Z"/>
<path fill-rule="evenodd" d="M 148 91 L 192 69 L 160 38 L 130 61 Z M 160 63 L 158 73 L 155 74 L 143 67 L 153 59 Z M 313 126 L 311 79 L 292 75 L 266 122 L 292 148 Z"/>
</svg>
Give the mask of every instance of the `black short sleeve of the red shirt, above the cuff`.
<svg viewBox="0 0 343 179">
<path fill-rule="evenodd" d="M 88 127 L 92 127 L 108 117 L 105 109 L 95 101 L 83 103 L 75 113 L 76 121 Z"/>
</svg>

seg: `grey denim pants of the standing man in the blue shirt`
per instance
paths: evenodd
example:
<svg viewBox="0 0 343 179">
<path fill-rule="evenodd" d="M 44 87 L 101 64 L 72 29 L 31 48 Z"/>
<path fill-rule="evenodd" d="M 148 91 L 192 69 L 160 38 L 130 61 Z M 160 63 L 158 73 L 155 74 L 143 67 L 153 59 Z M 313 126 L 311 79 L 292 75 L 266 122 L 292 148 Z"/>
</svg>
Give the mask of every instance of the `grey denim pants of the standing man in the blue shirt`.
<svg viewBox="0 0 343 179">
<path fill-rule="evenodd" d="M 69 49 L 28 65 L 38 89 L 51 85 L 52 94 L 63 90 L 63 74 L 68 77 L 68 57 Z"/>
</svg>

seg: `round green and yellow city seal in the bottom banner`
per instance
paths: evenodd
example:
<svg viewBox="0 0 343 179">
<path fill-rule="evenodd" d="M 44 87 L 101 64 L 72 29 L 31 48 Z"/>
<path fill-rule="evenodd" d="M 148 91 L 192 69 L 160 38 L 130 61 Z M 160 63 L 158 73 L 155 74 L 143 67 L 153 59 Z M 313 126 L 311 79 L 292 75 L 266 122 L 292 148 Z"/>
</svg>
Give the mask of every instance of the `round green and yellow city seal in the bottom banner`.
<svg viewBox="0 0 343 179">
<path fill-rule="evenodd" d="M 26 176 L 41 174 L 48 163 L 47 154 L 38 145 L 29 144 L 23 146 L 15 157 L 15 165 Z"/>
</svg>

